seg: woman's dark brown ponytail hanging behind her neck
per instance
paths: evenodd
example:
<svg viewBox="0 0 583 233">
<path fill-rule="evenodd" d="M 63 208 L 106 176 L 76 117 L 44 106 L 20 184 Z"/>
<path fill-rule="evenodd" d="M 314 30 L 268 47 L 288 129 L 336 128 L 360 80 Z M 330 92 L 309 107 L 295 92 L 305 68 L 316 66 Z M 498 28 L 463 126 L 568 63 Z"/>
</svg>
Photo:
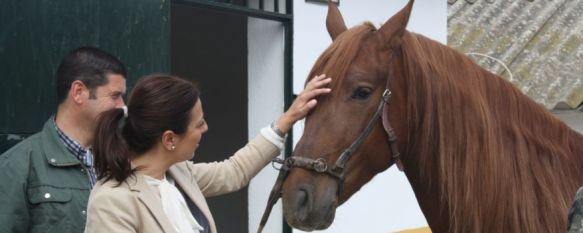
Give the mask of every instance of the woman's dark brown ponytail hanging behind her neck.
<svg viewBox="0 0 583 233">
<path fill-rule="evenodd" d="M 123 117 L 123 109 L 112 109 L 99 115 L 93 144 L 97 179 L 121 182 L 132 173 L 128 145 L 120 129 Z"/>
</svg>

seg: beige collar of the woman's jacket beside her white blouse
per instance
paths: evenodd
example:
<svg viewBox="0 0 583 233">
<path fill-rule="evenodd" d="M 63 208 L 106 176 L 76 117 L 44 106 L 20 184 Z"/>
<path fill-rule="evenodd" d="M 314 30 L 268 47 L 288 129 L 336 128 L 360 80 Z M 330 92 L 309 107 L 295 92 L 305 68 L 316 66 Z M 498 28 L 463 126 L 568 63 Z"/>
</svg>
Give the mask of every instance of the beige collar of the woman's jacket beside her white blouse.
<svg viewBox="0 0 583 233">
<path fill-rule="evenodd" d="M 133 173 L 125 182 L 127 182 L 130 190 L 139 192 L 138 199 L 150 210 L 150 213 L 164 232 L 176 232 L 174 225 L 172 225 L 172 222 L 164 212 L 160 197 L 152 191 L 142 175 Z"/>
</svg>

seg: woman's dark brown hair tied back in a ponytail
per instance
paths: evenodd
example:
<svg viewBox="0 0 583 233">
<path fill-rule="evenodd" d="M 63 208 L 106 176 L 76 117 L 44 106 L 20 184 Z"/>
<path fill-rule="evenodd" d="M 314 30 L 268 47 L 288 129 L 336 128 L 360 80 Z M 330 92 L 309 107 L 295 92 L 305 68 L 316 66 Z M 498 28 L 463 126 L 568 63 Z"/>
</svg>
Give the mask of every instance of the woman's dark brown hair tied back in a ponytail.
<svg viewBox="0 0 583 233">
<path fill-rule="evenodd" d="M 198 97 L 194 84 L 178 77 L 140 78 L 130 94 L 127 117 L 123 109 L 113 109 L 97 119 L 93 153 L 98 179 L 123 182 L 134 171 L 130 154 L 150 150 L 166 130 L 183 134 Z"/>
</svg>

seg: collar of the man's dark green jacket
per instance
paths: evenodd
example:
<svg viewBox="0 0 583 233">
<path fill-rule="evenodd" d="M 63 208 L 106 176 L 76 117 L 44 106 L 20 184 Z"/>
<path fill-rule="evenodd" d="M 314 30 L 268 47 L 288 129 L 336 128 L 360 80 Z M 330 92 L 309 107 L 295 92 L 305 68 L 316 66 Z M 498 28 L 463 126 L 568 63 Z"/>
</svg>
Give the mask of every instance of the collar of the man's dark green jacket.
<svg viewBox="0 0 583 233">
<path fill-rule="evenodd" d="M 81 164 L 79 159 L 71 154 L 71 152 L 65 148 L 61 139 L 59 139 L 57 130 L 53 125 L 54 117 L 54 115 L 51 116 L 51 118 L 45 122 L 43 130 L 41 131 L 41 138 L 43 139 L 41 140 L 41 143 L 47 162 L 57 167 L 76 166 Z"/>
</svg>

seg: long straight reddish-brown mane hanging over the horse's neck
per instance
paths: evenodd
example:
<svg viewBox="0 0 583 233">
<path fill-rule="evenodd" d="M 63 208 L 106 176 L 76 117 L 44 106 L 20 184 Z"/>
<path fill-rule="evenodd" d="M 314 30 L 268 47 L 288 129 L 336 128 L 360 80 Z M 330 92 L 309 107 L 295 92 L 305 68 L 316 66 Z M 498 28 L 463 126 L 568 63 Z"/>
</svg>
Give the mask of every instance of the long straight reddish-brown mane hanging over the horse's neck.
<svg viewBox="0 0 583 233">
<path fill-rule="evenodd" d="M 450 231 L 566 230 L 583 137 L 454 49 L 406 32 L 396 52 L 408 93 L 405 154 L 438 182 Z"/>
</svg>

